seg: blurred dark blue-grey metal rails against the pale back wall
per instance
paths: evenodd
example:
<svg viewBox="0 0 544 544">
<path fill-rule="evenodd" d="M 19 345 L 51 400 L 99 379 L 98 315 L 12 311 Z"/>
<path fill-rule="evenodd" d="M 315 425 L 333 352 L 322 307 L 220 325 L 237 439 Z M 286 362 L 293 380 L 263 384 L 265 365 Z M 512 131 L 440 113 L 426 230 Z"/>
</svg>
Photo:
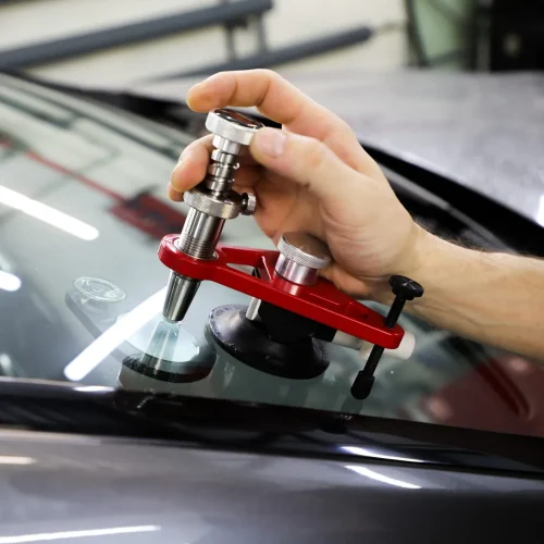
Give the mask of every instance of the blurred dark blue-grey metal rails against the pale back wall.
<svg viewBox="0 0 544 544">
<path fill-rule="evenodd" d="M 29 0 L 0 0 L 0 8 L 13 2 Z M 75 59 L 82 55 L 148 41 L 164 36 L 194 32 L 210 26 L 223 26 L 226 33 L 227 61 L 189 70 L 154 76 L 153 79 L 171 79 L 184 76 L 207 75 L 225 70 L 272 67 L 287 62 L 331 52 L 363 44 L 373 35 L 368 26 L 331 34 L 329 36 L 298 42 L 292 46 L 268 48 L 263 15 L 272 10 L 273 0 L 219 0 L 215 5 L 194 11 L 184 11 L 137 23 L 127 23 L 109 28 L 82 33 L 59 39 L 49 39 L 0 50 L 0 71 L 18 73 L 28 67 Z M 257 51 L 249 57 L 237 58 L 234 45 L 236 27 L 250 26 L 257 38 Z"/>
</svg>

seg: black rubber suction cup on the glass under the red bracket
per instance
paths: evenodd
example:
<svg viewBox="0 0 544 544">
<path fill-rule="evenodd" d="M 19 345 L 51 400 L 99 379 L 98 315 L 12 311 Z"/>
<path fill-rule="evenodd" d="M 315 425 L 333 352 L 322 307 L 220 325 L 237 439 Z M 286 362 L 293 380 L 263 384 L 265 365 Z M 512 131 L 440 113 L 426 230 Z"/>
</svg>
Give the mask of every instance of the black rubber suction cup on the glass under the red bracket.
<svg viewBox="0 0 544 544">
<path fill-rule="evenodd" d="M 274 342 L 261 323 L 246 319 L 246 310 L 247 306 L 227 305 L 210 313 L 208 327 L 227 354 L 256 370 L 292 380 L 317 378 L 327 369 L 329 357 L 320 341 Z"/>
</svg>

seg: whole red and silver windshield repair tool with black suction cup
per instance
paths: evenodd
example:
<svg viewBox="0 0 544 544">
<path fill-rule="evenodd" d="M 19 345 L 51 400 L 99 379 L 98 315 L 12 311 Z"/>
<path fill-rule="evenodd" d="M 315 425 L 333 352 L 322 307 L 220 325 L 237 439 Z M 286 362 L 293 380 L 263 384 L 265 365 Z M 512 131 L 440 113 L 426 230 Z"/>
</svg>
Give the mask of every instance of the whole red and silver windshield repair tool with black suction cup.
<svg viewBox="0 0 544 544">
<path fill-rule="evenodd" d="M 384 350 L 398 351 L 401 358 L 411 355 L 413 336 L 405 335 L 397 320 L 404 302 L 421 296 L 423 288 L 404 276 L 392 276 L 397 299 L 384 319 L 319 275 L 332 256 L 307 233 L 284 233 L 279 251 L 218 245 L 225 219 L 256 209 L 254 196 L 238 195 L 231 187 L 236 154 L 262 125 L 221 109 L 210 112 L 206 126 L 215 134 L 217 148 L 208 175 L 185 194 L 191 210 L 182 234 L 165 236 L 159 247 L 160 260 L 172 271 L 164 318 L 181 321 L 203 280 L 249 295 L 249 306 L 213 309 L 208 332 L 237 360 L 296 380 L 319 376 L 327 368 L 323 342 L 358 349 L 364 359 L 366 343 L 373 344 L 351 387 L 357 399 L 367 398 Z M 254 273 L 237 265 L 250 267 Z"/>
</svg>

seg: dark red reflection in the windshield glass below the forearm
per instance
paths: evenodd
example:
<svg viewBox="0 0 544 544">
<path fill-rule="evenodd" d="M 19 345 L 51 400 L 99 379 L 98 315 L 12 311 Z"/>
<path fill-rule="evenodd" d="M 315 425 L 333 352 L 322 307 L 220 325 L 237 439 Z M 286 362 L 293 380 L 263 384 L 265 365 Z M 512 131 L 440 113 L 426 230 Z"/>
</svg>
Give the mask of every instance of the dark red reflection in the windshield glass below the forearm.
<svg viewBox="0 0 544 544">
<path fill-rule="evenodd" d="M 544 436 L 543 395 L 544 368 L 506 355 L 482 362 L 421 408 L 436 423 Z"/>
</svg>

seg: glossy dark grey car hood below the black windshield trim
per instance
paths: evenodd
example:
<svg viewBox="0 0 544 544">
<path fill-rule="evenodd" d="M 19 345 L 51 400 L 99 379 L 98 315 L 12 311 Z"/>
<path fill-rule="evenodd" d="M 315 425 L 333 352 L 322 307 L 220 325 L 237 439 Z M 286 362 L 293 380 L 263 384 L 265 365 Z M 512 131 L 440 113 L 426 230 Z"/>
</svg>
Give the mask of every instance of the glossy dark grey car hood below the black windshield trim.
<svg viewBox="0 0 544 544">
<path fill-rule="evenodd" d="M 449 544 L 541 519 L 537 477 L 176 446 L 0 434 L 1 542 Z"/>
</svg>

